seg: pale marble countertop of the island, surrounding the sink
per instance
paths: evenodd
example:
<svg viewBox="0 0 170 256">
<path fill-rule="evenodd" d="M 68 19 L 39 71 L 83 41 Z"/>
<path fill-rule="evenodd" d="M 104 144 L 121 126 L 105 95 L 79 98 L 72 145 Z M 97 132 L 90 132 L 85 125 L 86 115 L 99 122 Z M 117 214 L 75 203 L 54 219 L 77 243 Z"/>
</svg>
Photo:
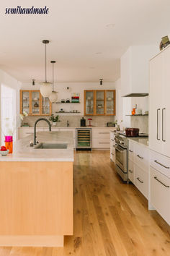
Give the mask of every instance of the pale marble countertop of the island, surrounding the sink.
<svg viewBox="0 0 170 256">
<path fill-rule="evenodd" d="M 73 162 L 73 132 L 37 132 L 38 142 L 67 143 L 66 149 L 35 149 L 30 147 L 33 135 L 14 142 L 14 151 L 6 156 L 0 155 L 0 161 L 60 161 Z"/>
</svg>

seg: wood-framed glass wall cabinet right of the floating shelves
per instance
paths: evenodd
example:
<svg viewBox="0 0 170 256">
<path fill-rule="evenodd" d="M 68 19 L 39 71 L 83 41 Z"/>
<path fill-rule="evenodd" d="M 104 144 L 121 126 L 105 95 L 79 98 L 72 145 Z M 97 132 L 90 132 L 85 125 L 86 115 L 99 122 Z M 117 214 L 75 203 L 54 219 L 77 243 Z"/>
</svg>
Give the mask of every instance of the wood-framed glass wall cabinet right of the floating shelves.
<svg viewBox="0 0 170 256">
<path fill-rule="evenodd" d="M 115 116 L 115 90 L 84 90 L 85 116 Z"/>
</svg>

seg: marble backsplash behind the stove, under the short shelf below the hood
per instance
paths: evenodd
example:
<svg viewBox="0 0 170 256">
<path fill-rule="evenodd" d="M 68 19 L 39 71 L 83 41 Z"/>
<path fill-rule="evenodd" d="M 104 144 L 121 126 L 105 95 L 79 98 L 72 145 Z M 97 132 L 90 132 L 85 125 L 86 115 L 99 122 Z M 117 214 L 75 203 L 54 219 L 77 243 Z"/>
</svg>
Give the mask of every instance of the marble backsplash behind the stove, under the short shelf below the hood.
<svg viewBox="0 0 170 256">
<path fill-rule="evenodd" d="M 148 116 L 131 116 L 131 127 L 139 128 L 139 132 L 148 133 Z"/>
</svg>

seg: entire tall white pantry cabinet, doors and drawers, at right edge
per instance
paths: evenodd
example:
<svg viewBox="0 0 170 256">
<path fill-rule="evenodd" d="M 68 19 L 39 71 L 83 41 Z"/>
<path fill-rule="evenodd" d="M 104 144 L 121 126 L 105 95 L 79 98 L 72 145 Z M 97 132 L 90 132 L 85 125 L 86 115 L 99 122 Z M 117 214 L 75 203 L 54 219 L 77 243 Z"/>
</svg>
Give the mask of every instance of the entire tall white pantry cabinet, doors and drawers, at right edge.
<svg viewBox="0 0 170 256">
<path fill-rule="evenodd" d="M 149 205 L 170 225 L 170 47 L 150 61 Z M 150 207 L 150 208 L 151 208 Z"/>
</svg>

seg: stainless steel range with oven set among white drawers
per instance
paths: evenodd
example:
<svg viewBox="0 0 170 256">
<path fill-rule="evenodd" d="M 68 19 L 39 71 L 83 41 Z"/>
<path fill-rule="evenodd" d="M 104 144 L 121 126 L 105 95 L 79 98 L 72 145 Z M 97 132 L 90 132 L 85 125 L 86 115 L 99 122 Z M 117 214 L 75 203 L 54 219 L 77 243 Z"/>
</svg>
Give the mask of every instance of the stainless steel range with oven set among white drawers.
<svg viewBox="0 0 170 256">
<path fill-rule="evenodd" d="M 128 181 L 128 138 L 124 135 L 115 135 L 116 171 L 123 181 Z"/>
</svg>

